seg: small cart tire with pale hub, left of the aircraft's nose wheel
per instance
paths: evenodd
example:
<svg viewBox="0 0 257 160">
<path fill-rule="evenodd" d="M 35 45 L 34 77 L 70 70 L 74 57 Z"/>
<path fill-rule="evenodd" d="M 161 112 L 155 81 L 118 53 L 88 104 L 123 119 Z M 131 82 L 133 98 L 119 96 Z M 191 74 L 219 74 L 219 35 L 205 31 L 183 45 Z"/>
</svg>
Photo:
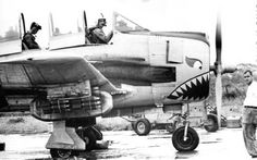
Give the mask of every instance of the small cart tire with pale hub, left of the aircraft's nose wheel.
<svg viewBox="0 0 257 160">
<path fill-rule="evenodd" d="M 145 136 L 150 133 L 151 124 L 147 119 L 139 119 L 135 123 L 135 133 L 139 136 Z"/>
</svg>

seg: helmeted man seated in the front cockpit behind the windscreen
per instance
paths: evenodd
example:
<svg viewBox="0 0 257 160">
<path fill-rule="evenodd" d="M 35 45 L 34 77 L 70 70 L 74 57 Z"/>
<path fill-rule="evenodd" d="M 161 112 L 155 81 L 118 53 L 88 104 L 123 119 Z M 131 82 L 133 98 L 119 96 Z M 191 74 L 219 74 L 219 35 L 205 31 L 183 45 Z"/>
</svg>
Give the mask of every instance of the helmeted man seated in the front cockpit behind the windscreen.
<svg viewBox="0 0 257 160">
<path fill-rule="evenodd" d="M 102 30 L 102 27 L 107 26 L 106 19 L 98 19 L 97 26 L 91 28 L 93 36 L 90 42 L 93 44 L 108 44 L 112 36 L 113 32 L 111 30 L 107 36 Z"/>
</svg>

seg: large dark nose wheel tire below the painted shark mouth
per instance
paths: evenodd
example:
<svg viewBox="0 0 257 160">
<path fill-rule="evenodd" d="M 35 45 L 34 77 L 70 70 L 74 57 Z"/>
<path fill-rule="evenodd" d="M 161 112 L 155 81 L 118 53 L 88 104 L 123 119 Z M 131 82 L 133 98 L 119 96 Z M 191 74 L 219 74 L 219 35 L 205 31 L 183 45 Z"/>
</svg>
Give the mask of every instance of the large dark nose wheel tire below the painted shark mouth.
<svg viewBox="0 0 257 160">
<path fill-rule="evenodd" d="M 196 131 L 188 126 L 187 139 L 184 140 L 185 126 L 179 127 L 172 135 L 172 144 L 179 151 L 192 151 L 199 145 L 199 136 Z"/>
</svg>

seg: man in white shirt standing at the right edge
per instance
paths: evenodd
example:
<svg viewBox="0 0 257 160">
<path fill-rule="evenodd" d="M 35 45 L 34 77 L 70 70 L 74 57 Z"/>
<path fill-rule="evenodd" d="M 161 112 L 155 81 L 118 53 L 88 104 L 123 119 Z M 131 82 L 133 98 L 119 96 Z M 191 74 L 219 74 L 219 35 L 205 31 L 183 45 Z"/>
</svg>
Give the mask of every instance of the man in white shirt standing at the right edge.
<svg viewBox="0 0 257 160">
<path fill-rule="evenodd" d="M 246 98 L 244 100 L 243 109 L 243 136 L 245 147 L 253 158 L 257 158 L 257 141 L 256 141 L 256 127 L 257 127 L 257 82 L 256 72 L 246 70 L 244 72 L 244 79 L 248 85 Z"/>
</svg>

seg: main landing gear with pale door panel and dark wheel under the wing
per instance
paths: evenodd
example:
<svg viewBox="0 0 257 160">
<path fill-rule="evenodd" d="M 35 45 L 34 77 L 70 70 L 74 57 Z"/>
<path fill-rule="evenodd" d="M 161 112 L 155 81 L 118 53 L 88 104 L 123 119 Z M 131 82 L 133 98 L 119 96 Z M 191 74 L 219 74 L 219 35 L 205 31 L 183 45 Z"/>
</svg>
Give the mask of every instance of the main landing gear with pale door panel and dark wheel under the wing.
<svg viewBox="0 0 257 160">
<path fill-rule="evenodd" d="M 88 120 L 87 124 L 91 121 Z M 82 123 L 81 120 L 53 122 L 53 132 L 46 145 L 52 158 L 66 159 L 78 156 L 82 151 L 107 148 L 99 148 L 100 145 L 97 144 L 97 140 L 102 140 L 102 133 L 94 126 L 95 123 L 79 125 Z"/>
</svg>

